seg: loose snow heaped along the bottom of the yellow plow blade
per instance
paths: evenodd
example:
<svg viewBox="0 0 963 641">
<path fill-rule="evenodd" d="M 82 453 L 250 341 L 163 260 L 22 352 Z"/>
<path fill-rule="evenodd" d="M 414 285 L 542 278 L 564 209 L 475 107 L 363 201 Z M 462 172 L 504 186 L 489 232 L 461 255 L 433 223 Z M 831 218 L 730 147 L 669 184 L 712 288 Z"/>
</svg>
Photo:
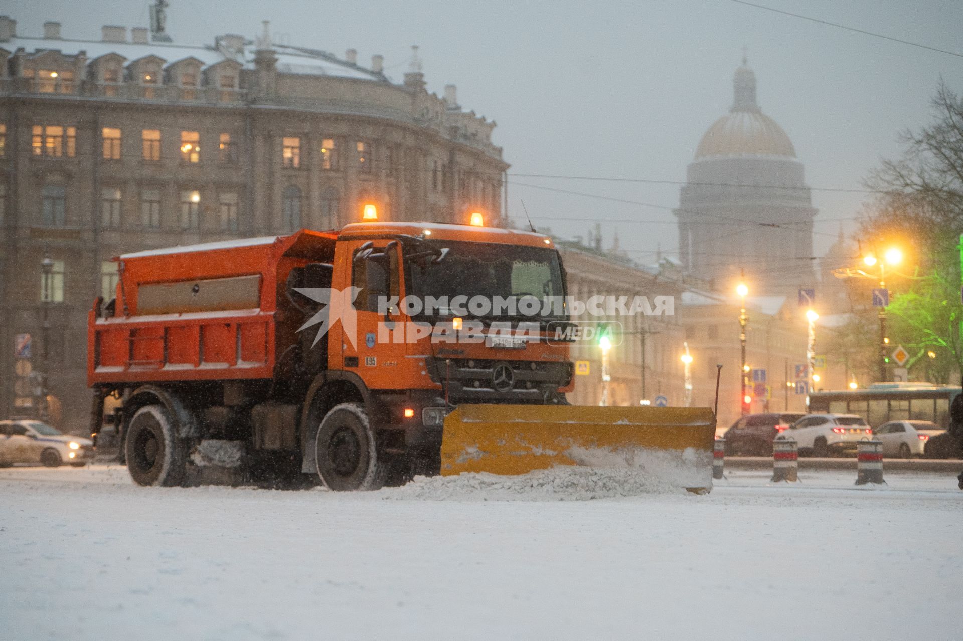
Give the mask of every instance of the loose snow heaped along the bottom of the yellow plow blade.
<svg viewBox="0 0 963 641">
<path fill-rule="evenodd" d="M 711 486 L 701 452 L 650 449 L 570 449 L 579 465 L 528 474 L 463 473 L 417 476 L 401 488 L 382 490 L 399 500 L 592 500 L 644 494 L 685 494 L 686 487 Z"/>
</svg>

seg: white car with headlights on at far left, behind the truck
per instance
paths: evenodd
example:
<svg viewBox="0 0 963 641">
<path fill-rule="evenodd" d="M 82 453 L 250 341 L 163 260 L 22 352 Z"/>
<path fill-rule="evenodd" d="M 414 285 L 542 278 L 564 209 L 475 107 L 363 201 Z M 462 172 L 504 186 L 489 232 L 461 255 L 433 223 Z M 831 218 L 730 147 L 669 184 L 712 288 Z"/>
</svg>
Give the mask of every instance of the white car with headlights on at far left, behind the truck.
<svg viewBox="0 0 963 641">
<path fill-rule="evenodd" d="M 93 441 L 62 434 L 39 421 L 0 421 L 0 467 L 13 463 L 82 466 L 93 460 Z"/>
</svg>

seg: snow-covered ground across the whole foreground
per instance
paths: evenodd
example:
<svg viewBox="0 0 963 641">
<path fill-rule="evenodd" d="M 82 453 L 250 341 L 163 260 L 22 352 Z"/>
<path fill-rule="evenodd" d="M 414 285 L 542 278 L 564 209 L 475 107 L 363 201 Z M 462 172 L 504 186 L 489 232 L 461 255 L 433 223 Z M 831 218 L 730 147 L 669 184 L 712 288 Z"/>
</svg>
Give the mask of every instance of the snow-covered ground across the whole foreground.
<svg viewBox="0 0 963 641">
<path fill-rule="evenodd" d="M 0 638 L 961 638 L 955 478 L 801 477 L 334 494 L 0 470 Z"/>
</svg>

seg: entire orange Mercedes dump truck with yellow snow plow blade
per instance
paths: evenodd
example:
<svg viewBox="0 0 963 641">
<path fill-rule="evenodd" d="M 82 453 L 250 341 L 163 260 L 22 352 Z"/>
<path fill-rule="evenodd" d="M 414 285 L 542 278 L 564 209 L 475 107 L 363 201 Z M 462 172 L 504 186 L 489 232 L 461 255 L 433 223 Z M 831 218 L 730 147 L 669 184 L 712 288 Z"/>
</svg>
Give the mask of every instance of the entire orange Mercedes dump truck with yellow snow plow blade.
<svg viewBox="0 0 963 641">
<path fill-rule="evenodd" d="M 576 333 L 546 236 L 373 221 L 116 260 L 88 326 L 91 432 L 117 430 L 142 485 L 203 465 L 332 490 L 590 465 L 712 486 L 712 410 L 567 403 Z"/>
</svg>

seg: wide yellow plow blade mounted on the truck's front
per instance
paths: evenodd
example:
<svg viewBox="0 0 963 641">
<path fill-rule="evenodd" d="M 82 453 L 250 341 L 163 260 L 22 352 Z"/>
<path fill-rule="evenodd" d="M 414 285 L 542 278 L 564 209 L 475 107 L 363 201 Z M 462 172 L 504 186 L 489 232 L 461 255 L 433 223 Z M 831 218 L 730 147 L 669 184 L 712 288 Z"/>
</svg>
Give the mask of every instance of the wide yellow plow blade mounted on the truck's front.
<svg viewBox="0 0 963 641">
<path fill-rule="evenodd" d="M 716 418 L 701 407 L 460 405 L 445 419 L 441 474 L 636 467 L 708 492 L 715 436 Z"/>
</svg>

